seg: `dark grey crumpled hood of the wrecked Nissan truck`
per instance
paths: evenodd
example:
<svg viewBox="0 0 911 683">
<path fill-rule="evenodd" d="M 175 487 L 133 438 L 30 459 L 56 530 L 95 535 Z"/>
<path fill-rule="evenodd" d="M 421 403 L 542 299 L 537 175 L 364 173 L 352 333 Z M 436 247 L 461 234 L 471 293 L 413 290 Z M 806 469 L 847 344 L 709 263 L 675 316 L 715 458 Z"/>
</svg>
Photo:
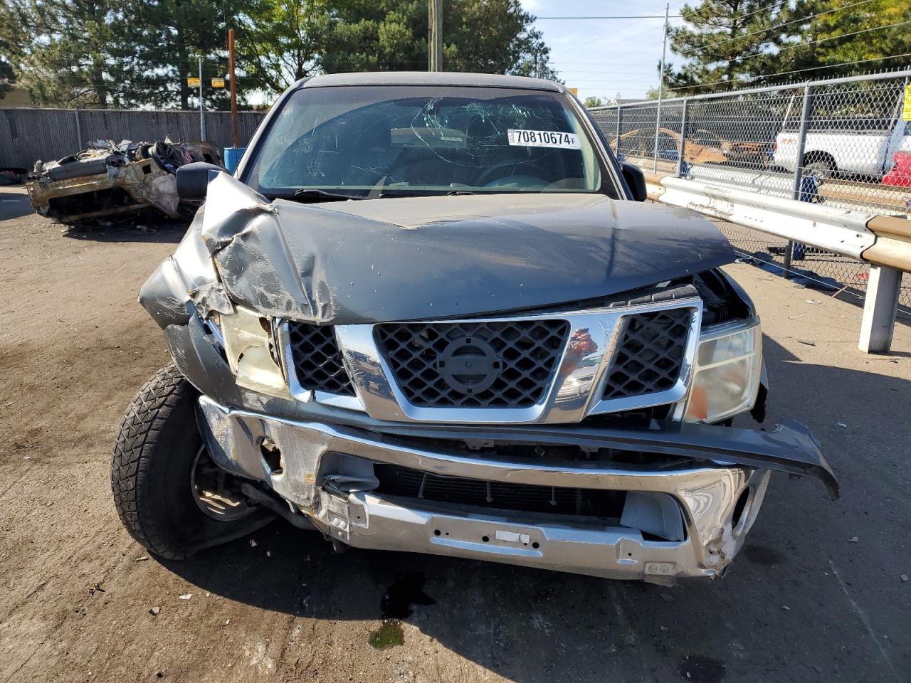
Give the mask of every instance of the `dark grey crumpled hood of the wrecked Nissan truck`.
<svg viewBox="0 0 911 683">
<path fill-rule="evenodd" d="M 459 195 L 319 204 L 210 181 L 201 237 L 231 299 L 356 324 L 537 308 L 731 262 L 711 223 L 603 195 Z"/>
</svg>

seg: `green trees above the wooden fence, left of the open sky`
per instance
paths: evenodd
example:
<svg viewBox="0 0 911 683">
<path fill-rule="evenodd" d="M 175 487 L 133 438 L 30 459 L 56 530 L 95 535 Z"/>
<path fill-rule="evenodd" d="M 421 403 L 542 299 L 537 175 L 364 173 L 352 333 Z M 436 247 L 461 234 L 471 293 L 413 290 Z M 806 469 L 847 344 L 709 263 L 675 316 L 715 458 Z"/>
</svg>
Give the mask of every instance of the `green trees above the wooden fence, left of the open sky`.
<svg viewBox="0 0 911 683">
<path fill-rule="evenodd" d="M 548 46 L 519 0 L 448 0 L 446 70 L 530 75 Z M 423 71 L 426 0 L 5 0 L 0 82 L 56 107 L 223 108 L 227 30 L 241 102 L 343 71 Z M 543 76 L 556 76 L 547 67 Z M 272 94 L 272 96 L 270 96 Z"/>
</svg>

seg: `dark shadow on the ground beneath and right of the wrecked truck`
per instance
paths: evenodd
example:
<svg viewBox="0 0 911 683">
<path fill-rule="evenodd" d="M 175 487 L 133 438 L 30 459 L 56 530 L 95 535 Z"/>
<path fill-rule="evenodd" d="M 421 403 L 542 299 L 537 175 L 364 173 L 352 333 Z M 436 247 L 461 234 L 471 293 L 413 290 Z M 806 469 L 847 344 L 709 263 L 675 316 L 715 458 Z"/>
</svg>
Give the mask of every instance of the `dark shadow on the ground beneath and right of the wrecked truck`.
<svg viewBox="0 0 911 683">
<path fill-rule="evenodd" d="M 865 515 L 865 501 L 883 495 L 896 519 L 911 516 L 905 495 L 880 490 L 905 450 L 876 440 L 883 433 L 911 440 L 899 400 L 911 382 L 804 364 L 768 339 L 765 355 L 772 383 L 765 425 L 809 423 L 845 494 L 832 504 L 813 480 L 773 475 L 747 545 L 721 581 L 651 586 L 451 557 L 334 555 L 320 535 L 281 522 L 166 565 L 247 605 L 373 622 L 373 633 L 363 632 L 368 651 L 404 644 L 419 661 L 440 646 L 516 681 L 891 679 L 856 610 L 876 623 L 901 620 L 901 584 L 868 571 L 896 558 L 894 539 L 881 519 Z M 867 402 L 877 410 L 863 420 L 849 410 Z M 852 536 L 864 546 L 846 543 Z M 896 650 L 896 661 L 901 656 Z"/>
</svg>

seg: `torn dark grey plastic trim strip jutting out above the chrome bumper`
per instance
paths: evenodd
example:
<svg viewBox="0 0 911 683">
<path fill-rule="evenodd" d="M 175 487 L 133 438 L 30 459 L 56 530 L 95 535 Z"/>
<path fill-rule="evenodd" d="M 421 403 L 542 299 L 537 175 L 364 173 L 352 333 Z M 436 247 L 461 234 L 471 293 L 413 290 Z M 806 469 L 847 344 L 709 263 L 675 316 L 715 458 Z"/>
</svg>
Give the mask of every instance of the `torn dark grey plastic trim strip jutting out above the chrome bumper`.
<svg viewBox="0 0 911 683">
<path fill-rule="evenodd" d="M 813 433 L 789 420 L 773 430 L 752 430 L 709 424 L 653 421 L 646 429 L 610 429 L 579 426 L 460 427 L 409 425 L 383 427 L 398 436 L 508 444 L 571 445 L 676 455 L 714 464 L 741 464 L 812 476 L 837 500 L 839 486 Z"/>
</svg>

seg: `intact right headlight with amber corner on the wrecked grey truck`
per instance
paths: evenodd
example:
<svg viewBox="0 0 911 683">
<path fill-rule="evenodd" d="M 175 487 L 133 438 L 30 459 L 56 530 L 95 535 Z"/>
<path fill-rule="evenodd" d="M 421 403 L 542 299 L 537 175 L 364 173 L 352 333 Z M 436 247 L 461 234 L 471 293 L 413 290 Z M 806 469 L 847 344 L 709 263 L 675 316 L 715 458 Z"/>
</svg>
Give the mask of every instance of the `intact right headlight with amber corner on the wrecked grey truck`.
<svg viewBox="0 0 911 683">
<path fill-rule="evenodd" d="M 762 367 L 758 320 L 703 332 L 683 422 L 718 423 L 750 410 Z"/>
</svg>

